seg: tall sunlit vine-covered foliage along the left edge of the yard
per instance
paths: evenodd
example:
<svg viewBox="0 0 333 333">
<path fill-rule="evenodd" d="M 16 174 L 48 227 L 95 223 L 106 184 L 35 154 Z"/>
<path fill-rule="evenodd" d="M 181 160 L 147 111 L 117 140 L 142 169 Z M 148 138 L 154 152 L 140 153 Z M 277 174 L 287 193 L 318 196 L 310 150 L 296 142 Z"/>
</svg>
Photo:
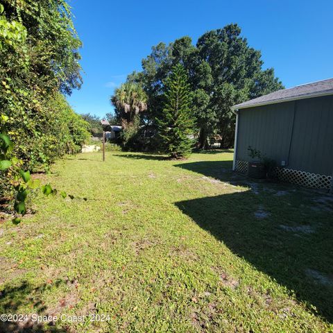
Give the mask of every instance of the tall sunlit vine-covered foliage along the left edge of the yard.
<svg viewBox="0 0 333 333">
<path fill-rule="evenodd" d="M 63 96 L 82 83 L 81 42 L 65 0 L 1 3 L 0 132 L 12 142 L 10 158 L 19 168 L 47 170 L 89 138 L 88 124 Z M 0 178 L 1 198 L 17 198 L 17 173 L 6 169 Z"/>
</svg>

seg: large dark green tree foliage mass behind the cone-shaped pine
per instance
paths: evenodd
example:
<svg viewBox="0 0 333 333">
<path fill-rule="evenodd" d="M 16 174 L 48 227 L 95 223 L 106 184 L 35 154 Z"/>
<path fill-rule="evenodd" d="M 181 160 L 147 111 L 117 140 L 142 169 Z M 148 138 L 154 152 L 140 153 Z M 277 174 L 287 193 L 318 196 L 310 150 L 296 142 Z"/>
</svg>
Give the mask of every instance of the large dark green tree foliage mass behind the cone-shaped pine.
<svg viewBox="0 0 333 333">
<path fill-rule="evenodd" d="M 185 67 L 194 94 L 198 148 L 207 148 L 216 135 L 221 137 L 221 146 L 232 146 L 235 116 L 230 106 L 283 88 L 273 69 L 262 69 L 261 52 L 241 37 L 237 24 L 230 24 L 203 34 L 196 45 L 185 36 L 169 45 L 153 46 L 142 60 L 142 71 L 128 76 L 128 82 L 140 83 L 148 96 L 148 112 L 140 114 L 142 121 L 156 125 L 164 80 L 178 63 Z"/>
</svg>

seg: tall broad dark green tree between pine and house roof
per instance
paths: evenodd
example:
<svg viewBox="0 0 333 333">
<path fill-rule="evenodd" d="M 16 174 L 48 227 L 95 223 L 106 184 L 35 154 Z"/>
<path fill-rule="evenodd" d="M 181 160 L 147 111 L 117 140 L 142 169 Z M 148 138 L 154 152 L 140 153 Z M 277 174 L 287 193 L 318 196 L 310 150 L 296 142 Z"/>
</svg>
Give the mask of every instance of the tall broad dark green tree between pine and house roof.
<svg viewBox="0 0 333 333">
<path fill-rule="evenodd" d="M 230 106 L 282 89 L 282 83 L 274 77 L 273 69 L 262 70 L 264 62 L 260 51 L 248 46 L 237 24 L 205 33 L 196 47 L 212 75 L 212 85 L 205 89 L 210 96 L 207 109 L 218 119 L 215 126 L 207 128 L 205 137 L 200 137 L 199 142 L 203 147 L 207 146 L 206 137 L 217 130 L 222 137 L 222 146 L 230 147 L 235 121 Z"/>
</svg>

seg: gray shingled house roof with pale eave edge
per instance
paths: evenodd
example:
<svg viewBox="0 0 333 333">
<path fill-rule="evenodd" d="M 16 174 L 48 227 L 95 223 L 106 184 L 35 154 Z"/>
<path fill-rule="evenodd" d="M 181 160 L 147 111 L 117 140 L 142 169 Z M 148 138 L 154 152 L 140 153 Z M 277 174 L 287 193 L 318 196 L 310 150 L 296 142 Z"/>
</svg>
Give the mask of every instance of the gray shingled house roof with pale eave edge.
<svg viewBox="0 0 333 333">
<path fill-rule="evenodd" d="M 297 85 L 293 88 L 281 89 L 277 92 L 271 92 L 271 94 L 257 97 L 257 99 L 250 99 L 250 101 L 232 106 L 232 110 L 287 101 L 296 101 L 297 99 L 309 99 L 310 97 L 332 94 L 333 78 L 327 78 L 326 80 L 307 83 L 305 85 Z"/>
</svg>

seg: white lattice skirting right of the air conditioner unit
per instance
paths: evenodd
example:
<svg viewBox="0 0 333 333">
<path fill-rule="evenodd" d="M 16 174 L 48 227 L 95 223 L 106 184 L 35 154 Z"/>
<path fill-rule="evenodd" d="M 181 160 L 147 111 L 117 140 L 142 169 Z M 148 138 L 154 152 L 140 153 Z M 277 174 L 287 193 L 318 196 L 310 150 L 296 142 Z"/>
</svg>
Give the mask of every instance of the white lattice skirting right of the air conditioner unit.
<svg viewBox="0 0 333 333">
<path fill-rule="evenodd" d="M 304 187 L 315 189 L 330 189 L 332 176 L 318 175 L 305 171 L 293 169 L 276 169 L 276 174 L 280 180 L 291 182 Z"/>
</svg>

